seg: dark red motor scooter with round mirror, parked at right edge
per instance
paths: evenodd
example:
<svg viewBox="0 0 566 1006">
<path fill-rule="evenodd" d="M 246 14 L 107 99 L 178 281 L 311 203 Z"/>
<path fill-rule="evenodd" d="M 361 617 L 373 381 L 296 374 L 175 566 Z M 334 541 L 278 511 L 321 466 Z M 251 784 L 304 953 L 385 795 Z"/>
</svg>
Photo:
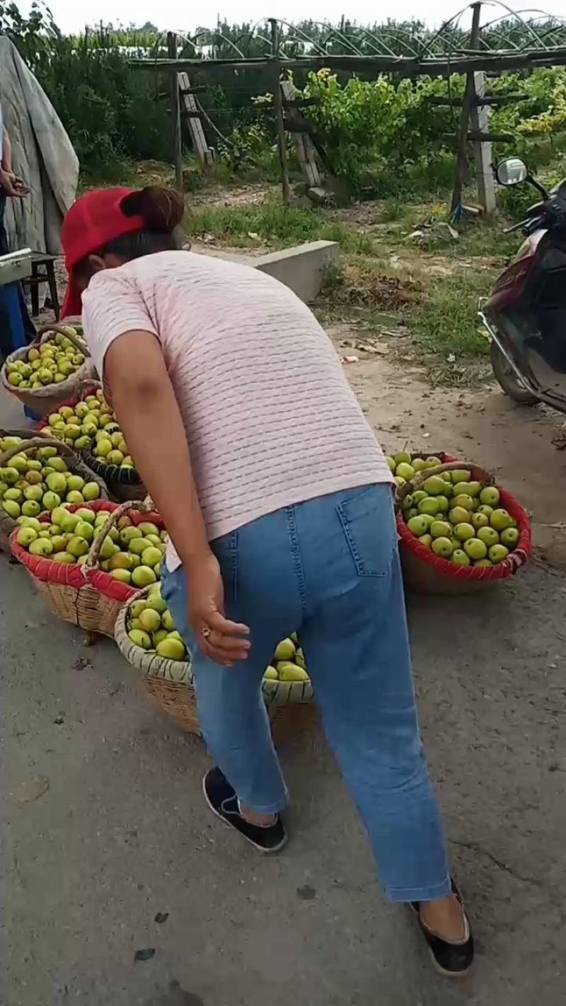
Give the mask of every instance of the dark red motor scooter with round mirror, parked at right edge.
<svg viewBox="0 0 566 1006">
<path fill-rule="evenodd" d="M 496 177 L 530 183 L 542 198 L 506 231 L 525 240 L 480 305 L 494 373 L 514 401 L 566 412 L 566 179 L 547 192 L 519 157 L 501 161 Z"/>
</svg>

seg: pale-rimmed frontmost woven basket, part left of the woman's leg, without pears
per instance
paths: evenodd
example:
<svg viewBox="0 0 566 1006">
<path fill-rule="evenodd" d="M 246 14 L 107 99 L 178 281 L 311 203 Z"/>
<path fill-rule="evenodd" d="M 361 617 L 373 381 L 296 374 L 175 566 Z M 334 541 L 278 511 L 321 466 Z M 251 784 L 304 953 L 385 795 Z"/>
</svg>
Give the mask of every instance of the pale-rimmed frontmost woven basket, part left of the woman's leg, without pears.
<svg viewBox="0 0 566 1006">
<path fill-rule="evenodd" d="M 147 590 L 140 591 L 132 601 L 138 601 L 147 595 Z M 160 657 L 157 653 L 149 653 L 130 639 L 127 629 L 130 604 L 132 602 L 124 606 L 116 620 L 114 638 L 119 650 L 133 667 L 143 672 L 144 687 L 154 705 L 161 712 L 172 716 L 181 729 L 200 736 L 190 660 L 183 664 L 187 680 L 172 681 L 171 672 L 179 670 L 180 662 Z"/>
</svg>

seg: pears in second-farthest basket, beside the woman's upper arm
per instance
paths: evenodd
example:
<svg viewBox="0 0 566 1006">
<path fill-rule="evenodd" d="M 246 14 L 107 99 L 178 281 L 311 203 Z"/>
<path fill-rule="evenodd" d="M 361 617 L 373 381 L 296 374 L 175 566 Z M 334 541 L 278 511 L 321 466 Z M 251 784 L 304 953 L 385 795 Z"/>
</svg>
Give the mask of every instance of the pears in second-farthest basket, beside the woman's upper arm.
<svg viewBox="0 0 566 1006">
<path fill-rule="evenodd" d="M 104 465 L 135 468 L 128 444 L 102 388 L 47 418 L 51 435 L 75 451 L 89 451 Z"/>
</svg>

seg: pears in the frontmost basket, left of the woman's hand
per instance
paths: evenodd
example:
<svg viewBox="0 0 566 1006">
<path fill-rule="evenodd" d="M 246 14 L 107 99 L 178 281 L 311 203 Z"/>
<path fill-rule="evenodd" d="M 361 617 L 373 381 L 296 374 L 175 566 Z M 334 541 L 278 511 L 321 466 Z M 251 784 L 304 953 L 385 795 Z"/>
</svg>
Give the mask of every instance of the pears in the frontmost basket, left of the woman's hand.
<svg viewBox="0 0 566 1006">
<path fill-rule="evenodd" d="M 146 598 L 134 601 L 128 609 L 128 636 L 136 646 L 149 653 L 173 661 L 165 669 L 152 667 L 155 677 L 165 677 L 171 681 L 189 680 L 187 648 L 175 628 L 173 616 L 161 597 L 161 586 L 155 583 Z"/>
</svg>

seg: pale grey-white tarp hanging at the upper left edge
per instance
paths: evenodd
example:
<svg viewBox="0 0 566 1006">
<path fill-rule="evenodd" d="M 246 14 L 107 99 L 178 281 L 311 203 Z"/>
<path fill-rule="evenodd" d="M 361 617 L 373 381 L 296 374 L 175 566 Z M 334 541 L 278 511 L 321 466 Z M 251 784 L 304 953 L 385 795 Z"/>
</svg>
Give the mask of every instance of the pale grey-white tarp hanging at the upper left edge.
<svg viewBox="0 0 566 1006">
<path fill-rule="evenodd" d="M 5 36 L 0 36 L 0 102 L 13 169 L 30 188 L 25 199 L 7 201 L 10 246 L 57 255 L 61 220 L 75 198 L 78 160 L 45 92 Z"/>
</svg>

